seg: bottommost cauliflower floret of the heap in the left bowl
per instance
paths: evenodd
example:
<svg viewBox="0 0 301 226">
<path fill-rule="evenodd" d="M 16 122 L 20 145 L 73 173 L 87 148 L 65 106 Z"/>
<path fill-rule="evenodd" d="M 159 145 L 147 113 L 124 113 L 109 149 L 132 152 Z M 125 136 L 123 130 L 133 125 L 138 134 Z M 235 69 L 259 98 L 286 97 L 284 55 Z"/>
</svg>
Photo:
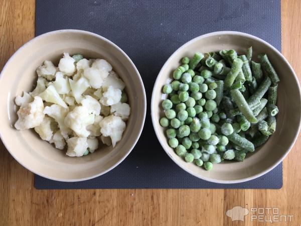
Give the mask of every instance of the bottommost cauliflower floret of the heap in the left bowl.
<svg viewBox="0 0 301 226">
<path fill-rule="evenodd" d="M 68 150 L 66 155 L 70 157 L 83 156 L 89 147 L 87 138 L 84 137 L 73 137 L 67 140 Z"/>
</svg>

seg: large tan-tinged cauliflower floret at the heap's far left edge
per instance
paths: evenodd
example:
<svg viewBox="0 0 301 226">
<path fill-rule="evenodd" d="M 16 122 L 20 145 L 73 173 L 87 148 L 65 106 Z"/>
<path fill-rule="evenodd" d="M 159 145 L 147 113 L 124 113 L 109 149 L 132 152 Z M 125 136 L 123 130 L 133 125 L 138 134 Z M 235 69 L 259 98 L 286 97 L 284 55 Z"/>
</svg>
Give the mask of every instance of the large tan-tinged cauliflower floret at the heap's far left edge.
<svg viewBox="0 0 301 226">
<path fill-rule="evenodd" d="M 39 126 L 45 117 L 44 104 L 40 96 L 35 96 L 33 102 L 23 104 L 17 112 L 18 121 L 15 123 L 17 130 L 26 130 Z"/>
</svg>

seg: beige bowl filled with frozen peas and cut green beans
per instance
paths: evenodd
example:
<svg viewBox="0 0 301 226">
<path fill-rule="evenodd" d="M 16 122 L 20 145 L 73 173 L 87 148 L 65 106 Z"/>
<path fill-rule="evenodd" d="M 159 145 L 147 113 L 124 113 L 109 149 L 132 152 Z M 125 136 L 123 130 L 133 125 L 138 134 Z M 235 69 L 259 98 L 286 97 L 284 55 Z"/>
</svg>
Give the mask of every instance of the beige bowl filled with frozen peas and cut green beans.
<svg viewBox="0 0 301 226">
<path fill-rule="evenodd" d="M 237 183 L 277 166 L 300 129 L 300 87 L 265 41 L 215 32 L 180 47 L 152 95 L 156 135 L 172 160 L 201 179 Z"/>
</svg>

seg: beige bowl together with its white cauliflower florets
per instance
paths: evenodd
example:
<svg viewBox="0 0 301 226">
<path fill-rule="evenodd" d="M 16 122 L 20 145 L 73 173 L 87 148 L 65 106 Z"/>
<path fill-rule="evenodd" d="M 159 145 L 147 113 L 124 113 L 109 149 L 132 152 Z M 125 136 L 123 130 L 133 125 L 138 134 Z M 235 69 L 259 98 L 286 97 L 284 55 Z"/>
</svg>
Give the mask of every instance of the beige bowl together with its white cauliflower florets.
<svg viewBox="0 0 301 226">
<path fill-rule="evenodd" d="M 27 169 L 81 181 L 117 166 L 145 119 L 139 72 L 115 44 L 96 34 L 60 30 L 21 47 L 0 76 L 1 139 Z"/>
</svg>

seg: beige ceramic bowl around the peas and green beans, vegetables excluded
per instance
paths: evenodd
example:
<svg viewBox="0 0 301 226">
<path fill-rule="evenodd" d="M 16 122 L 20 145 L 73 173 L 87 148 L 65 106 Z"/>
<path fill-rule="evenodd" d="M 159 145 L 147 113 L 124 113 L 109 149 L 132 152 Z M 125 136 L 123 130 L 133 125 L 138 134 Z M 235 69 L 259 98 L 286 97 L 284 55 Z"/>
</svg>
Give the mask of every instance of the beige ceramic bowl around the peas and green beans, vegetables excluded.
<svg viewBox="0 0 301 226">
<path fill-rule="evenodd" d="M 211 52 L 221 49 L 235 49 L 244 53 L 246 48 L 253 47 L 253 55 L 267 53 L 275 67 L 280 83 L 278 86 L 279 114 L 277 128 L 267 143 L 253 154 L 248 154 L 245 161 L 223 162 L 215 164 L 211 171 L 206 171 L 193 163 L 186 163 L 169 147 L 165 130 L 159 120 L 164 115 L 161 107 L 165 95 L 162 87 L 172 78 L 172 72 L 179 65 L 182 57 L 192 57 L 195 52 Z M 287 60 L 267 42 L 240 32 L 214 32 L 202 35 L 180 47 L 162 67 L 152 95 L 152 121 L 156 135 L 171 159 L 182 169 L 204 180 L 217 183 L 238 183 L 259 177 L 277 166 L 293 146 L 300 129 L 301 104 L 300 86 L 297 77 Z"/>
</svg>

